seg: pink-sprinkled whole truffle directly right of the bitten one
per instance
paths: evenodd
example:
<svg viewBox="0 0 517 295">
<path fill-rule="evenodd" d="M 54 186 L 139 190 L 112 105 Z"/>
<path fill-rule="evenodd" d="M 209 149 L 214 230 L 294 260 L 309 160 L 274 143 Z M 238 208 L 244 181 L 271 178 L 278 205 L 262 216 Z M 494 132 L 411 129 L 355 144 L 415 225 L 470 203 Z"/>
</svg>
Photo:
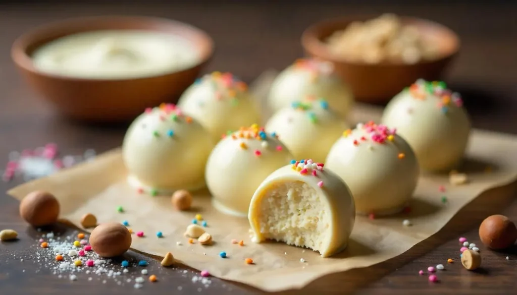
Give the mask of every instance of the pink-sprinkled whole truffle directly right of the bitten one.
<svg viewBox="0 0 517 295">
<path fill-rule="evenodd" d="M 419 168 L 415 153 L 394 129 L 369 122 L 347 130 L 332 146 L 325 168 L 338 174 L 362 214 L 402 210 L 413 196 Z"/>
</svg>

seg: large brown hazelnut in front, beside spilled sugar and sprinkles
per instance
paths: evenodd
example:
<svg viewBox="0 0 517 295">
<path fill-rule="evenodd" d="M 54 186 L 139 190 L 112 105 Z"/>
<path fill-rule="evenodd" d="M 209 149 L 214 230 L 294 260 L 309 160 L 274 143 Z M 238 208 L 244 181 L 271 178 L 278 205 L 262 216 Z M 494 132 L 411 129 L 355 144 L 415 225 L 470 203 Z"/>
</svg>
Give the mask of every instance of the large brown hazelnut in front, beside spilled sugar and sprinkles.
<svg viewBox="0 0 517 295">
<path fill-rule="evenodd" d="M 131 234 L 120 223 L 103 223 L 90 234 L 90 245 L 102 257 L 120 256 L 131 247 Z"/>
</svg>

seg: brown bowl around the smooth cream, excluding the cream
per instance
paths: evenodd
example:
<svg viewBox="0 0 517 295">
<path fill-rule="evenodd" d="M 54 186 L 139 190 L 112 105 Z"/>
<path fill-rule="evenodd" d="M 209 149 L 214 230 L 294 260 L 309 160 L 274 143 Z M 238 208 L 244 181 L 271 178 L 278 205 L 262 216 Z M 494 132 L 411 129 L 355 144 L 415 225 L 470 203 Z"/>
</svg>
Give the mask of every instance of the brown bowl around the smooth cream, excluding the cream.
<svg viewBox="0 0 517 295">
<path fill-rule="evenodd" d="M 73 33 L 104 29 L 138 29 L 175 34 L 195 44 L 199 63 L 191 68 L 131 79 L 96 80 L 49 74 L 37 70 L 31 54 L 38 46 Z M 214 42 L 202 30 L 177 21 L 150 17 L 104 16 L 58 21 L 19 37 L 11 57 L 27 83 L 60 113 L 86 121 L 126 121 L 145 107 L 176 102 L 192 84 L 214 52 Z"/>
</svg>

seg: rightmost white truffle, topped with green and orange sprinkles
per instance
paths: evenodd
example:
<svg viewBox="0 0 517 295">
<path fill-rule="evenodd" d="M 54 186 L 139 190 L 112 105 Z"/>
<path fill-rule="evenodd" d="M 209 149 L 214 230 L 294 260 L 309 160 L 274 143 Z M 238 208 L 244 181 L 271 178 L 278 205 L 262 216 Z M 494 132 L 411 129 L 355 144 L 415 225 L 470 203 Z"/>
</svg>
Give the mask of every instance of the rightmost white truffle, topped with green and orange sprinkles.
<svg viewBox="0 0 517 295">
<path fill-rule="evenodd" d="M 419 80 L 388 103 L 382 122 L 406 139 L 422 170 L 443 171 L 460 164 L 467 147 L 470 120 L 462 105 L 445 83 Z"/>
</svg>

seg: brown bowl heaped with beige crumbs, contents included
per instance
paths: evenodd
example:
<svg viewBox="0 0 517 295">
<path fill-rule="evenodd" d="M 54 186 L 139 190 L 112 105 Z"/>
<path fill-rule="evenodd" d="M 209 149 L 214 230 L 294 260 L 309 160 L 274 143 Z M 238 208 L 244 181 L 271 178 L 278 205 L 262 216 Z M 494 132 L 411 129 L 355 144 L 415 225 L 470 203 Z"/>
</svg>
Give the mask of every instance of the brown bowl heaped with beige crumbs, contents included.
<svg viewBox="0 0 517 295">
<path fill-rule="evenodd" d="M 369 103 L 386 103 L 418 79 L 440 79 L 460 49 L 449 28 L 390 13 L 322 21 L 301 42 L 308 55 L 333 64 L 356 100 Z"/>
</svg>

